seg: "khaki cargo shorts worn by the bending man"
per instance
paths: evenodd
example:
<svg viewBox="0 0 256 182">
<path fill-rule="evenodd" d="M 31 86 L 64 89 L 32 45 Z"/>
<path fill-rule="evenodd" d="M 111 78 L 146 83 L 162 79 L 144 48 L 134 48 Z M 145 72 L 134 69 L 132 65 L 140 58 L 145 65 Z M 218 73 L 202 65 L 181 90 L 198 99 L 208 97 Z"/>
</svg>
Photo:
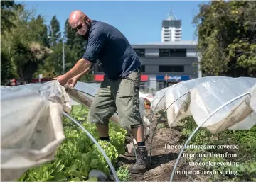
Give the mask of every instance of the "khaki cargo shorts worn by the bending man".
<svg viewBox="0 0 256 182">
<path fill-rule="evenodd" d="M 141 72 L 130 73 L 127 78 L 104 78 L 90 106 L 88 120 L 108 125 L 117 111 L 121 127 L 142 124 L 139 112 L 139 85 Z"/>
</svg>

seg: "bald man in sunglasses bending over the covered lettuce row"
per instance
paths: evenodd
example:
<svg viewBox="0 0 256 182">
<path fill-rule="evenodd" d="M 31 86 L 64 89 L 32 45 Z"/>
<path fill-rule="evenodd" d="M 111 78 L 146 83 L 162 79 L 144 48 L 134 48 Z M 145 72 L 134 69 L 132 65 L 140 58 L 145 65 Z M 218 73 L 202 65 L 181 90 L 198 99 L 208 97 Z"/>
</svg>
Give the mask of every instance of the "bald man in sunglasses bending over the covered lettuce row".
<svg viewBox="0 0 256 182">
<path fill-rule="evenodd" d="M 87 49 L 73 69 L 55 79 L 62 85 L 73 87 L 97 60 L 100 62 L 105 76 L 95 94 L 88 120 L 96 123 L 100 139 L 109 141 L 109 119 L 118 110 L 121 126 L 131 126 L 137 140 L 137 161 L 130 171 L 134 174 L 144 173 L 149 159 L 139 112 L 139 57 L 127 38 L 112 25 L 91 20 L 82 11 L 70 13 L 69 23 L 73 30 L 87 40 Z"/>
</svg>

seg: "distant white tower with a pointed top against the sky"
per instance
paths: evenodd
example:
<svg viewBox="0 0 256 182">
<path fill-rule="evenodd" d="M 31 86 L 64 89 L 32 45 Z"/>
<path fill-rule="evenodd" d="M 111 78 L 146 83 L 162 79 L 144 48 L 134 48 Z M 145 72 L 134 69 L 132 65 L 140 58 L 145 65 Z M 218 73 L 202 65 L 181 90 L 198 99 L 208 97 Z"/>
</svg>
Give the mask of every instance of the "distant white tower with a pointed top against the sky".
<svg viewBox="0 0 256 182">
<path fill-rule="evenodd" d="M 181 38 L 181 20 L 178 20 L 174 13 L 169 11 L 167 19 L 162 21 L 161 42 L 174 42 Z"/>
</svg>

